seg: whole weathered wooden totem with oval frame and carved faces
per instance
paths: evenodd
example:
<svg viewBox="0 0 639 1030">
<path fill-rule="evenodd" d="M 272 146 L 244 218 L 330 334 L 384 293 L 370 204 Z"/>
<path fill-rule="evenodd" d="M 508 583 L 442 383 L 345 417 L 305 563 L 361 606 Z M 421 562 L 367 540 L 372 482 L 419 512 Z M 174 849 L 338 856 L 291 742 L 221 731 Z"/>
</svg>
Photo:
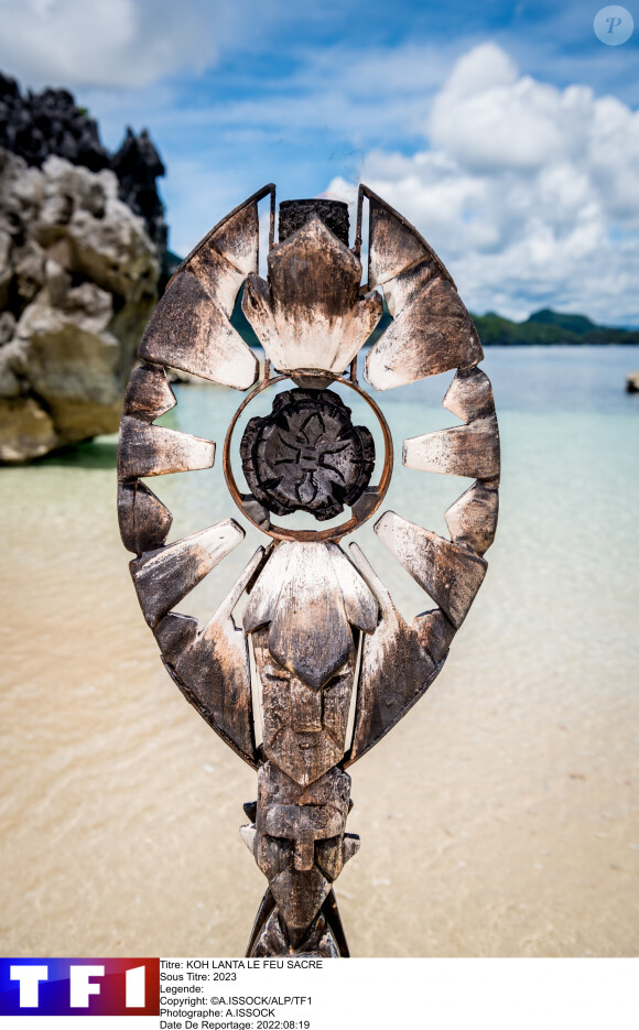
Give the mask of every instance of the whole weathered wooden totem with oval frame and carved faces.
<svg viewBox="0 0 639 1030">
<path fill-rule="evenodd" d="M 268 195 L 264 280 L 258 202 Z M 365 198 L 368 283 L 360 286 Z M 348 208 L 338 202 L 282 203 L 277 245 L 274 224 L 274 186 L 267 186 L 220 221 L 169 284 L 127 392 L 119 518 L 124 545 L 138 555 L 131 574 L 140 605 L 169 673 L 258 770 L 258 799 L 245 805 L 249 823 L 240 833 L 269 886 L 247 954 L 345 956 L 333 882 L 359 847 L 346 833 L 346 770 L 433 682 L 479 589 L 497 522 L 499 437 L 473 322 L 437 256 L 401 215 L 361 186 L 353 249 Z M 231 421 L 223 463 L 242 518 L 270 540 L 198 630 L 196 619 L 172 609 L 245 531 L 228 519 L 166 544 L 172 517 L 142 480 L 214 464 L 214 443 L 153 424 L 175 404 L 165 367 L 237 390 L 258 381 L 256 354 L 230 322 L 242 286 L 242 310 L 266 367 Z M 412 625 L 357 544 L 349 554 L 342 546 L 382 503 L 392 471 L 388 425 L 357 380 L 358 351 L 382 314 L 381 291 L 392 322 L 368 354 L 366 381 L 382 391 L 456 369 L 443 404 L 464 423 L 404 441 L 402 460 L 476 480 L 445 513 L 450 540 L 392 511 L 375 525 L 436 606 Z M 246 406 L 273 387 L 270 413 L 251 418 L 241 437 L 248 492 L 240 492 L 234 430 Z M 353 424 L 337 389 L 367 403 L 383 456 L 376 459 L 369 429 Z M 345 508 L 350 517 L 339 521 Z M 272 521 L 295 511 L 331 525 L 295 530 Z M 232 612 L 245 594 L 238 628 Z M 259 691 L 251 689 L 249 648 Z M 261 740 L 252 711 L 258 696 Z"/>
</svg>

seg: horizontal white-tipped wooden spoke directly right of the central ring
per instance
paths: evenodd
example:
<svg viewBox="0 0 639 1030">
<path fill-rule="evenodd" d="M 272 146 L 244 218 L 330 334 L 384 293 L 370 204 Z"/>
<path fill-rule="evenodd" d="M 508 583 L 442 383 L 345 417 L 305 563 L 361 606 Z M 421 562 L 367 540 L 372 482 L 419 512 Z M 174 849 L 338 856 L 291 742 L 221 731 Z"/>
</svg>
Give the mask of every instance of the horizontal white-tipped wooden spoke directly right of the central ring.
<svg viewBox="0 0 639 1030">
<path fill-rule="evenodd" d="M 496 479 L 500 468 L 497 419 L 489 415 L 404 440 L 402 462 L 407 468 L 427 473 Z"/>
</svg>

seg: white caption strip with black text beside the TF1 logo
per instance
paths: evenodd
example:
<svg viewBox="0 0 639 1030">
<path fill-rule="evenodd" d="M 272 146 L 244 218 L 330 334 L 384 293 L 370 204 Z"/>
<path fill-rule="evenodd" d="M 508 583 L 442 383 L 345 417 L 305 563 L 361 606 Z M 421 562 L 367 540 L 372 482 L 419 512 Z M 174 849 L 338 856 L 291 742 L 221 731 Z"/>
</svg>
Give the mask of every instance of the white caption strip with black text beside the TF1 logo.
<svg viewBox="0 0 639 1030">
<path fill-rule="evenodd" d="M 163 958 L 160 1017 L 6 1016 L 0 1028 L 636 1030 L 635 958 Z"/>
</svg>

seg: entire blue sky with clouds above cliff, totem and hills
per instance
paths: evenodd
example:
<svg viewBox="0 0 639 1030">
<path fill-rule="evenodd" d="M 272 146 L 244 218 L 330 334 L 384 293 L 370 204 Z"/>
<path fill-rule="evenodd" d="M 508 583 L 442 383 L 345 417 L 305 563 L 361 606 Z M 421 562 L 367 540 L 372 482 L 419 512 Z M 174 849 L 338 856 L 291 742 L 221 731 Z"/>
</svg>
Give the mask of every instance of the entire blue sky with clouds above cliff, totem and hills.
<svg viewBox="0 0 639 1030">
<path fill-rule="evenodd" d="M 617 45 L 595 34 L 600 10 L 0 0 L 0 68 L 71 89 L 110 149 L 149 129 L 181 256 L 264 183 L 353 200 L 365 182 L 470 311 L 639 325 L 639 0 Z"/>
</svg>

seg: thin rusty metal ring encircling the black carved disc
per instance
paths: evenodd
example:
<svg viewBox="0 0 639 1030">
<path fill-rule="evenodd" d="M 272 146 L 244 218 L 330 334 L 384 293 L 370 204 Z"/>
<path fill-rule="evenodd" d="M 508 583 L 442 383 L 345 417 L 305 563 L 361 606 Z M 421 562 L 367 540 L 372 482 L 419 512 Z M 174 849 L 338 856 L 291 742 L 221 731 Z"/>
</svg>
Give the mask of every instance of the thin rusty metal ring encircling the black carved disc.
<svg viewBox="0 0 639 1030">
<path fill-rule="evenodd" d="M 351 516 L 346 522 L 342 522 L 339 525 L 335 525 L 332 529 L 325 530 L 294 530 L 294 529 L 284 529 L 283 525 L 274 525 L 273 523 L 269 524 L 268 529 L 264 529 L 263 525 L 260 525 L 247 512 L 245 506 L 241 501 L 241 494 L 238 490 L 237 483 L 235 481 L 235 476 L 232 474 L 232 468 L 230 464 L 230 445 L 232 440 L 234 430 L 236 427 L 237 421 L 241 415 L 245 408 L 250 404 L 250 402 L 266 390 L 268 387 L 274 386 L 277 382 L 282 382 L 284 379 L 303 379 L 303 378 L 313 377 L 314 379 L 327 379 L 331 382 L 339 382 L 345 387 L 348 387 L 350 390 L 354 390 L 359 397 L 364 398 L 368 406 L 371 409 L 375 415 L 377 415 L 377 421 L 381 426 L 381 432 L 383 434 L 383 446 L 385 446 L 385 456 L 383 456 L 383 468 L 381 470 L 381 477 L 379 480 L 378 498 L 373 507 L 361 518 L 356 518 Z M 344 376 L 336 376 L 334 372 L 326 372 L 323 369 L 308 369 L 308 368 L 297 368 L 292 371 L 282 372 L 279 376 L 274 376 L 271 379 L 264 378 L 254 390 L 249 393 L 247 398 L 242 401 L 235 415 L 231 419 L 230 425 L 227 430 L 226 437 L 224 441 L 224 452 L 223 452 L 223 468 L 224 468 L 224 478 L 226 479 L 226 485 L 229 489 L 229 494 L 236 502 L 237 507 L 249 522 L 259 529 L 262 533 L 266 533 L 268 536 L 272 536 L 273 540 L 301 540 L 305 543 L 311 543 L 313 541 L 321 540 L 342 540 L 347 533 L 351 533 L 354 530 L 358 529 L 365 522 L 367 522 L 371 516 L 375 514 L 382 500 L 385 499 L 389 485 L 390 478 L 392 475 L 392 462 L 393 462 L 393 451 L 392 451 L 392 436 L 388 422 L 382 415 L 379 406 L 369 397 L 368 393 L 365 393 L 360 389 L 357 382 L 354 382 L 351 379 L 345 379 Z"/>
</svg>

